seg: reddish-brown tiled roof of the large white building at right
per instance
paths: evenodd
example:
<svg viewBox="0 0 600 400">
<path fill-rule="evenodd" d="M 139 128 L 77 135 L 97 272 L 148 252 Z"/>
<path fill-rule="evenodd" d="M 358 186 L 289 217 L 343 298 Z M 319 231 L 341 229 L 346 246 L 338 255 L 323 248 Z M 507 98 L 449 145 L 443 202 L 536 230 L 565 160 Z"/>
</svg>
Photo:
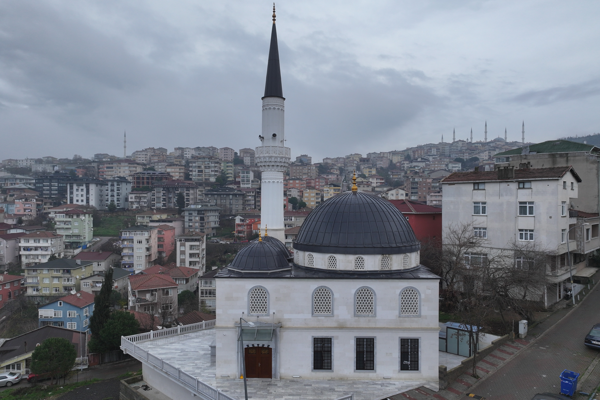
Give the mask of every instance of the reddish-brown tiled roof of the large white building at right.
<svg viewBox="0 0 600 400">
<path fill-rule="evenodd" d="M 581 182 L 581 178 L 577 175 L 573 167 L 522 168 L 515 169 L 514 172 L 514 178 L 508 179 L 498 179 L 498 171 L 453 172 L 442 179 L 442 183 L 560 179 L 568 172 L 573 174 L 577 182 Z"/>
</svg>

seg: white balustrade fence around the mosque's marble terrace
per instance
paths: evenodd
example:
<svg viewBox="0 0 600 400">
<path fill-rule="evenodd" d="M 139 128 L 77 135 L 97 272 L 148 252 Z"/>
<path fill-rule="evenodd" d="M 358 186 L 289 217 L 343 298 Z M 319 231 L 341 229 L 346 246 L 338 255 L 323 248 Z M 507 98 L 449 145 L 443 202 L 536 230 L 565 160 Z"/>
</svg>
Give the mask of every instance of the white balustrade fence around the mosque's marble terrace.
<svg viewBox="0 0 600 400">
<path fill-rule="evenodd" d="M 181 369 L 174 367 L 161 358 L 150 354 L 148 351 L 139 347 L 136 343 L 145 342 L 147 340 L 162 339 L 170 336 L 183 335 L 186 333 L 197 332 L 204 329 L 213 329 L 216 321 L 203 321 L 197 324 L 178 326 L 176 328 L 162 329 L 160 331 L 150 331 L 127 337 L 121 337 L 121 350 L 129 354 L 141 362 L 152 365 L 154 368 L 164 372 L 172 379 L 190 389 L 194 394 L 202 399 L 209 400 L 236 400 L 233 397 L 227 396 L 220 390 L 207 385 L 199 379 L 183 372 Z M 344 398 L 346 399 L 346 398 Z"/>
</svg>

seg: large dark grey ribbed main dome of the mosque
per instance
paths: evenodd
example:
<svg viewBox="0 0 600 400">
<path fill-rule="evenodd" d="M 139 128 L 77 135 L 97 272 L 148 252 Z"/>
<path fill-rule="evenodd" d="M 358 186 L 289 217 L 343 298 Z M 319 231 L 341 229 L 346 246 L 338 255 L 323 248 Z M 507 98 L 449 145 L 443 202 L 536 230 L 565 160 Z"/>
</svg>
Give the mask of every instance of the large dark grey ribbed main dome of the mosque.
<svg viewBox="0 0 600 400">
<path fill-rule="evenodd" d="M 403 254 L 421 245 L 402 213 L 380 197 L 347 192 L 306 218 L 294 249 L 334 254 Z"/>
</svg>

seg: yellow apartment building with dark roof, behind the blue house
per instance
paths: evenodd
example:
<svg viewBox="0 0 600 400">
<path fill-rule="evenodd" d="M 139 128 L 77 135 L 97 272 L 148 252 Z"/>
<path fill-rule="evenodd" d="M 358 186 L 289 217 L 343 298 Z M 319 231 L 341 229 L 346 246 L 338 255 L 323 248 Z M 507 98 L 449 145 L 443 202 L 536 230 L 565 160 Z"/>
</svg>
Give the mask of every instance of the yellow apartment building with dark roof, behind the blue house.
<svg viewBox="0 0 600 400">
<path fill-rule="evenodd" d="M 81 280 L 93 275 L 91 262 L 59 258 L 24 267 L 26 296 L 42 303 L 53 296 L 64 296 L 81 290 Z"/>
</svg>

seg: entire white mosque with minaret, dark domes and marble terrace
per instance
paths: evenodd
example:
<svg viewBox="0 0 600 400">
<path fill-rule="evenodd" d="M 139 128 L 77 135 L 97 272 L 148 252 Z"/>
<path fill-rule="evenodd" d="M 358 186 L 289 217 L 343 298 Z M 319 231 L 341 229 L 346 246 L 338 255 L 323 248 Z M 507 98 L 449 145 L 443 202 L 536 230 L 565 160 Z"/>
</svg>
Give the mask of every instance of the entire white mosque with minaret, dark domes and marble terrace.
<svg viewBox="0 0 600 400">
<path fill-rule="evenodd" d="M 398 209 L 354 181 L 306 218 L 293 256 L 282 243 L 290 149 L 275 15 L 266 80 L 256 155 L 268 235 L 217 274 L 214 327 L 137 335 L 122 348 L 143 362 L 148 385 L 177 399 L 242 399 L 242 382 L 260 399 L 437 390 L 439 277 L 420 264 L 420 244 Z"/>
</svg>

